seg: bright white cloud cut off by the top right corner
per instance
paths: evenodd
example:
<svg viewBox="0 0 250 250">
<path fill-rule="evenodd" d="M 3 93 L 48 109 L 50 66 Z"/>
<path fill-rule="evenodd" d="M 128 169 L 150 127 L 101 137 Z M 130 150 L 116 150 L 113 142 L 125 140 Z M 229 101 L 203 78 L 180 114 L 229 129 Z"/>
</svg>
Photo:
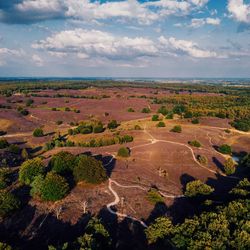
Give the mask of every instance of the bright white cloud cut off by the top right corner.
<svg viewBox="0 0 250 250">
<path fill-rule="evenodd" d="M 250 4 L 244 3 L 243 0 L 228 0 L 227 8 L 235 20 L 250 23 Z"/>
</svg>

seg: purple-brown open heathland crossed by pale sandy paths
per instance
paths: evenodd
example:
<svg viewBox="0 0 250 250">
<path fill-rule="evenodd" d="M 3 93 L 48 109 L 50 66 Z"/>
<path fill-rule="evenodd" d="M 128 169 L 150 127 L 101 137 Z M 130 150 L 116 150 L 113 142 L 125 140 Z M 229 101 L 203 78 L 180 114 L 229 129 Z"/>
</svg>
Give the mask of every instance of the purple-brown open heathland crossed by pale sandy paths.
<svg viewBox="0 0 250 250">
<path fill-rule="evenodd" d="M 178 98 L 188 93 L 182 91 L 178 93 Z M 222 98 L 224 95 L 192 93 L 192 98 L 203 96 Z M 230 125 L 232 118 L 201 116 L 199 123 L 194 124 L 193 118 L 184 118 L 182 114 L 174 114 L 173 119 L 159 115 L 159 121 L 164 122 L 165 126 L 157 127 L 159 121 L 152 121 L 151 117 L 157 114 L 163 104 L 153 100 L 175 97 L 175 93 L 165 89 L 133 87 L 31 90 L 28 94 L 1 96 L 0 103 L 9 106 L 8 109 L 0 109 L 1 130 L 6 132 L 1 136 L 2 139 L 18 144 L 21 149 L 30 150 L 32 157 L 41 156 L 45 164 L 60 151 L 74 155 L 88 153 L 102 161 L 108 179 L 99 185 L 78 183 L 72 186 L 63 199 L 44 202 L 27 198 L 29 188 L 19 185 L 15 177 L 10 190 L 27 201 L 19 211 L 2 221 L 0 239 L 14 239 L 16 246 L 24 245 L 26 249 L 42 244 L 43 249 L 45 240 L 46 244 L 56 244 L 59 236 L 70 241 L 79 235 L 90 214 L 99 215 L 104 221 L 110 220 L 110 225 L 125 223 L 126 220 L 139 222 L 138 228 L 147 227 L 159 215 L 167 215 L 174 223 L 182 222 L 188 216 L 199 213 L 202 208 L 184 196 L 187 183 L 193 180 L 201 180 L 214 188 L 210 199 L 222 202 L 221 197 L 237 184 L 244 176 L 244 171 L 239 168 L 235 174 L 227 176 L 224 164 L 231 156 L 220 153 L 218 147 L 227 144 L 231 146 L 233 155 L 237 156 L 248 153 L 250 132 L 233 128 Z M 27 106 L 25 103 L 29 99 L 33 102 Z M 176 104 L 164 105 L 171 110 Z M 28 110 L 28 114 L 20 114 L 18 107 Z M 129 108 L 133 112 L 129 112 Z M 142 113 L 143 108 L 150 109 L 150 112 Z M 69 129 L 73 131 L 81 121 L 97 120 L 104 124 L 101 133 L 68 134 Z M 107 124 L 111 120 L 118 121 L 119 126 L 108 129 Z M 58 121 L 61 121 L 60 124 Z M 181 133 L 171 131 L 176 125 L 181 126 Z M 135 129 L 135 126 L 140 129 Z M 34 137 L 35 128 L 42 128 L 44 136 Z M 74 146 L 54 146 L 44 150 L 44 145 L 58 135 L 74 143 Z M 119 143 L 85 145 L 93 139 L 117 140 L 125 135 L 133 138 L 132 142 L 122 145 L 130 150 L 127 158 L 117 155 L 121 147 Z M 201 146 L 190 145 L 190 141 L 194 140 Z M 5 150 L 0 151 L 3 153 L 1 157 L 4 157 Z M 204 156 L 207 163 L 200 163 L 198 156 Z M 13 169 L 17 176 L 18 167 Z M 163 204 L 158 206 L 147 198 L 151 188 L 158 190 Z M 85 209 L 88 214 L 83 213 L 83 202 L 87 202 Z M 108 219 L 110 216 L 111 219 Z M 69 228 L 72 229 L 70 233 Z M 134 237 L 140 236 L 135 233 Z M 139 248 L 143 247 L 142 244 Z"/>
</svg>

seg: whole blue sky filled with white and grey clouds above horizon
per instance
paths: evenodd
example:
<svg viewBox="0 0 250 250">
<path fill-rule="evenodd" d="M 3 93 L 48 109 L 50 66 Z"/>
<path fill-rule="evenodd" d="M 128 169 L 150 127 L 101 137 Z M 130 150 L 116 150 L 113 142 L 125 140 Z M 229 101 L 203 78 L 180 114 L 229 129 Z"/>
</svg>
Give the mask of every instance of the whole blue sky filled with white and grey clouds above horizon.
<svg viewBox="0 0 250 250">
<path fill-rule="evenodd" d="M 250 77 L 250 0 L 0 0 L 0 77 Z"/>
</svg>

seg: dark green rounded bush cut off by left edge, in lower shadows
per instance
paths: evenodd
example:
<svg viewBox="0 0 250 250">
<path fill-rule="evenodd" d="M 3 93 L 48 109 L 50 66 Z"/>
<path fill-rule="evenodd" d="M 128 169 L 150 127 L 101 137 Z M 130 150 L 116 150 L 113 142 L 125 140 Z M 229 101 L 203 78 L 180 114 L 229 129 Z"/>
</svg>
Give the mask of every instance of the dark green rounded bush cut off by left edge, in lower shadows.
<svg viewBox="0 0 250 250">
<path fill-rule="evenodd" d="M 3 218 L 20 207 L 20 201 L 10 192 L 0 190 L 0 217 Z"/>
</svg>

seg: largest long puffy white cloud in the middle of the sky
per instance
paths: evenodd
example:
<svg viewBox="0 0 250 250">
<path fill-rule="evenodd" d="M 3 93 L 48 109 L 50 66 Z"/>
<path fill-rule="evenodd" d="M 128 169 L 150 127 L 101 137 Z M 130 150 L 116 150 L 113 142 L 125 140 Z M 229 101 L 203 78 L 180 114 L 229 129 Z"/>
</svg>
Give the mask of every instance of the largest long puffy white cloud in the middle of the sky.
<svg viewBox="0 0 250 250">
<path fill-rule="evenodd" d="M 109 59 L 134 59 L 155 56 L 154 42 L 143 37 L 121 37 L 98 30 L 65 30 L 32 45 L 51 53 L 71 53 L 79 58 L 105 57 Z"/>
</svg>

